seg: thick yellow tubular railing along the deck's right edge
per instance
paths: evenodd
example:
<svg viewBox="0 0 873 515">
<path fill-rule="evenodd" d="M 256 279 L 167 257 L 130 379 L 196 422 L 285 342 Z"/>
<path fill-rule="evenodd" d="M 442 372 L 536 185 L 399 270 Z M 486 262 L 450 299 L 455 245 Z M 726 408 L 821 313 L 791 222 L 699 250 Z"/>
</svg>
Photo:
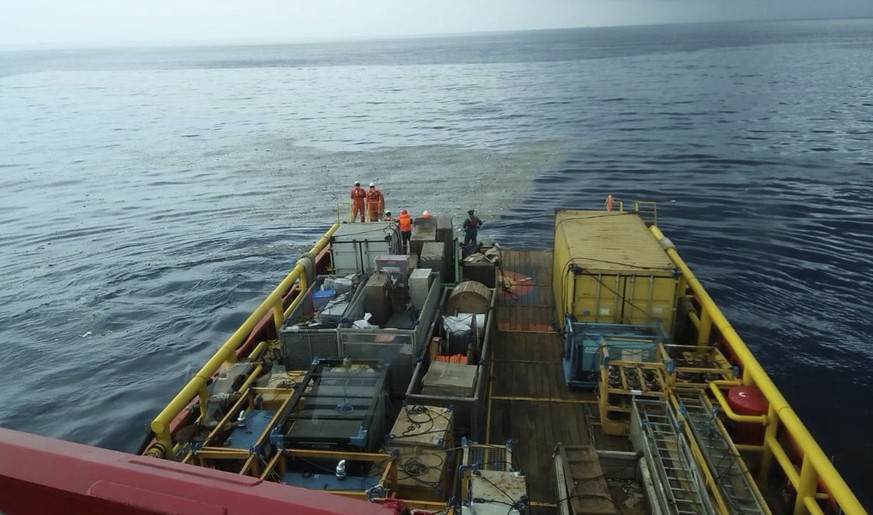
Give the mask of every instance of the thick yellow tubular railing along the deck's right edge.
<svg viewBox="0 0 873 515">
<path fill-rule="evenodd" d="M 806 426 L 803 425 L 803 422 L 800 421 L 800 418 L 798 418 L 797 414 L 788 404 L 788 401 L 785 400 L 782 393 L 776 388 L 770 376 L 767 375 L 761 364 L 758 363 L 758 360 L 755 359 L 752 352 L 746 347 L 742 338 L 728 323 L 721 310 L 718 309 L 718 306 L 716 306 L 709 294 L 706 293 L 706 290 L 703 289 L 703 286 L 691 272 L 691 269 L 688 268 L 688 265 L 679 257 L 676 249 L 656 226 L 652 226 L 651 231 L 655 238 L 661 242 L 662 247 L 664 247 L 673 264 L 682 272 L 682 281 L 691 288 L 700 302 L 701 314 L 698 321 L 698 341 L 702 344 L 709 343 L 709 335 L 714 325 L 742 365 L 743 384 L 757 386 L 770 404 L 766 419 L 764 419 L 766 430 L 758 481 L 761 483 L 766 482 L 770 465 L 773 462 L 773 458 L 775 458 L 776 463 L 782 468 L 785 476 L 797 492 L 797 500 L 793 507 L 795 515 L 822 513 L 817 499 L 827 499 L 829 496 L 824 493 L 818 493 L 819 481 L 824 484 L 824 489 L 830 494 L 830 497 L 833 498 L 836 504 L 839 505 L 843 513 L 853 515 L 867 513 L 842 476 L 837 472 L 837 469 L 806 429 Z M 717 400 L 723 410 L 729 410 L 724 396 L 717 396 Z M 761 422 L 761 417 L 755 418 L 757 419 L 756 422 Z M 787 431 L 788 435 L 800 449 L 802 462 L 799 472 L 795 469 L 795 465 L 788 458 L 788 453 L 776 438 L 779 424 L 785 428 L 785 431 Z"/>
</svg>

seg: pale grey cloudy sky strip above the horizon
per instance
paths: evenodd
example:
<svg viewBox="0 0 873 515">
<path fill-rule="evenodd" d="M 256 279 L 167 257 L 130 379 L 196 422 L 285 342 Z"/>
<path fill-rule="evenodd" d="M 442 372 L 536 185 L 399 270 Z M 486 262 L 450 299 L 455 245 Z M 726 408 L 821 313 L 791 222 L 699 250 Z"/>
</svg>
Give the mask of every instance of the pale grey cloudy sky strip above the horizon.
<svg viewBox="0 0 873 515">
<path fill-rule="evenodd" d="M 873 16 L 873 0 L 5 0 L 0 48 Z"/>
</svg>

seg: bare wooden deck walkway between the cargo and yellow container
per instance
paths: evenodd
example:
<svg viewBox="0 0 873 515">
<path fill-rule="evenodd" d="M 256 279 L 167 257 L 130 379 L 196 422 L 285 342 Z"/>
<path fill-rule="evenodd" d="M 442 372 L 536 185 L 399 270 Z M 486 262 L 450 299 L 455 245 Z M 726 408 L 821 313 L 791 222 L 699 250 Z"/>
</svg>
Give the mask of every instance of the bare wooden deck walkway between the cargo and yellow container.
<svg viewBox="0 0 873 515">
<path fill-rule="evenodd" d="M 488 442 L 509 439 L 527 476 L 531 513 L 556 513 L 555 446 L 589 445 L 585 404 L 593 392 L 564 384 L 562 343 L 554 329 L 552 253 L 504 251 L 506 286 L 498 295 L 488 403 Z"/>
</svg>

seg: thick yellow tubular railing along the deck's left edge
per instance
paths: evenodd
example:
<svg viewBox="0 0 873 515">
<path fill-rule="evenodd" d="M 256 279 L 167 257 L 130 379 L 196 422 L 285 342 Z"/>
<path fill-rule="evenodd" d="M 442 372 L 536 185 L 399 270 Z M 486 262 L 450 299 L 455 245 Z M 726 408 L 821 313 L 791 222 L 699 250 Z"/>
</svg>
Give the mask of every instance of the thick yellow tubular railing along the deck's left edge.
<svg viewBox="0 0 873 515">
<path fill-rule="evenodd" d="M 312 256 L 321 252 L 330 241 L 330 237 L 339 228 L 339 224 L 334 224 L 330 230 L 310 249 L 309 253 Z M 288 291 L 295 282 L 300 281 L 300 291 L 305 291 L 309 285 L 306 284 L 306 276 L 304 274 L 304 266 L 298 262 L 291 272 L 285 276 L 279 286 L 276 287 L 267 295 L 267 298 L 260 306 L 246 319 L 236 332 L 231 335 L 224 345 L 222 345 L 215 354 L 203 365 L 194 377 L 188 381 L 182 390 L 176 394 L 172 401 L 161 411 L 154 420 L 152 420 L 151 428 L 155 433 L 155 441 L 159 448 L 155 452 L 150 452 L 154 455 L 169 456 L 173 452 L 173 440 L 170 434 L 171 422 L 182 412 L 194 397 L 201 398 L 201 409 L 204 407 L 203 400 L 206 398 L 206 385 L 209 379 L 218 372 L 219 368 L 225 363 L 232 363 L 236 359 L 236 350 L 246 341 L 249 334 L 254 330 L 255 326 L 264 318 L 267 313 L 273 313 L 273 323 L 275 324 L 276 332 L 282 326 L 285 318 L 285 311 L 282 309 L 282 296 Z M 299 297 L 298 299 L 299 300 Z"/>
</svg>

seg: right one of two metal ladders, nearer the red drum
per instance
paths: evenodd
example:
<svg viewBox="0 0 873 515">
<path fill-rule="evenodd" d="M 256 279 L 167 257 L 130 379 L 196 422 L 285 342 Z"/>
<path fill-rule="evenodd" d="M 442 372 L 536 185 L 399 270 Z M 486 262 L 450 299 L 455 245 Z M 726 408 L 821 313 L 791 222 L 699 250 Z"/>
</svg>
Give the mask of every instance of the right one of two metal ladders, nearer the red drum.
<svg viewBox="0 0 873 515">
<path fill-rule="evenodd" d="M 757 485 L 748 475 L 745 462 L 724 434 L 705 394 L 696 390 L 677 392 L 676 399 L 680 403 L 679 413 L 688 421 L 706 466 L 731 513 L 769 514 Z"/>
</svg>

